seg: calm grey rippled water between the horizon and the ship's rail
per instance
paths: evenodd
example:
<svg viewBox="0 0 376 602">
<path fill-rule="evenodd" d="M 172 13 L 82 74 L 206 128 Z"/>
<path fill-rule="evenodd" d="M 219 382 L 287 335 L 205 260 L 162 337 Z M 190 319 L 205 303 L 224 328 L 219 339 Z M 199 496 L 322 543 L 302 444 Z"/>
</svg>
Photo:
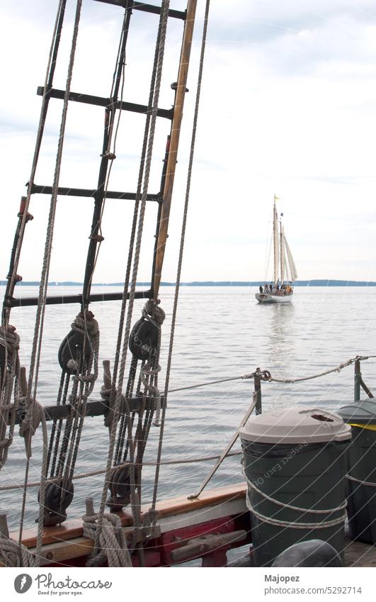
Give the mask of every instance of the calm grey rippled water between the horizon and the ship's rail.
<svg viewBox="0 0 376 602">
<path fill-rule="evenodd" d="M 103 287 L 93 288 L 103 291 Z M 64 294 L 72 292 L 77 290 L 64 287 Z M 185 286 L 181 289 L 171 388 L 252 372 L 258 366 L 269 369 L 274 377 L 309 376 L 355 355 L 372 355 L 376 351 L 376 288 L 297 288 L 293 303 L 271 306 L 258 305 L 254 292 L 253 288 L 245 286 Z M 36 293 L 31 286 L 18 289 L 18 294 L 23 296 Z M 62 287 L 51 287 L 50 294 L 58 293 L 62 293 Z M 167 314 L 162 367 L 166 365 L 172 297 L 172 288 L 161 289 L 161 306 Z M 136 301 L 134 315 L 137 319 L 141 308 L 142 301 Z M 47 306 L 38 385 L 42 403 L 55 403 L 60 373 L 57 350 L 77 311 L 78 306 L 74 305 Z M 112 360 L 120 303 L 94 303 L 92 311 L 101 328 L 101 360 Z M 21 335 L 21 363 L 26 366 L 34 316 L 35 308 L 13 309 L 12 312 L 11 323 Z M 375 359 L 363 362 L 362 366 L 363 379 L 371 390 L 376 389 Z M 98 398 L 101 384 L 102 374 L 92 399 Z M 249 406 L 252 389 L 252 381 L 239 380 L 171 394 L 162 459 L 220 453 Z M 305 383 L 263 383 L 262 394 L 263 411 L 294 404 L 335 409 L 353 399 L 353 367 Z M 152 428 L 145 459 L 155 458 L 158 433 L 157 428 Z M 103 418 L 87 418 L 77 472 L 105 467 L 107 445 L 108 433 Z M 205 462 L 162 467 L 159 498 L 195 491 L 211 465 L 211 462 Z M 1 484 L 21 482 L 24 466 L 23 440 L 16 430 L 8 462 L 1 471 Z M 39 479 L 39 471 L 40 440 L 35 435 L 30 481 Z M 154 469 L 144 469 L 144 501 L 152 491 L 153 475 Z M 74 501 L 69 508 L 71 517 L 84 513 L 86 496 L 100 497 L 102 479 L 99 476 L 75 481 Z M 240 479 L 239 457 L 234 457 L 222 464 L 212 485 L 236 483 Z M 3 491 L 0 495 L 0 510 L 8 513 L 8 522 L 15 528 L 21 491 Z M 35 496 L 35 489 L 29 489 L 28 525 L 35 520 Z"/>
</svg>

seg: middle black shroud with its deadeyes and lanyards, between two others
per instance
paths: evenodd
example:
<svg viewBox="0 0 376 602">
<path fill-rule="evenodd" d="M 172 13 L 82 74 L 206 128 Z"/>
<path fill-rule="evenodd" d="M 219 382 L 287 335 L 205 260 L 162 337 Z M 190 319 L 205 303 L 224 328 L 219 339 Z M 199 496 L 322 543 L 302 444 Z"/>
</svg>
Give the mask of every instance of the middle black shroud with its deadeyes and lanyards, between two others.
<svg viewBox="0 0 376 602">
<path fill-rule="evenodd" d="M 118 137 L 120 118 L 122 114 L 121 103 L 123 101 L 123 91 L 125 83 L 125 47 L 127 42 L 129 20 L 130 11 L 125 11 L 125 16 L 123 18 L 123 26 L 120 35 L 120 42 L 118 45 L 118 53 L 115 60 L 115 69 L 113 72 L 113 81 L 110 91 L 110 104 L 106 107 L 105 111 L 103 152 L 101 154 L 102 159 L 101 167 L 99 169 L 97 189 L 99 196 L 98 198 L 96 198 L 93 209 L 93 222 L 91 226 L 91 236 L 89 237 L 90 243 L 88 257 L 86 260 L 86 272 L 82 295 L 83 307 L 81 313 L 78 316 L 76 316 L 76 319 L 72 324 L 71 333 L 69 333 L 69 335 L 67 335 L 67 338 L 64 339 L 65 347 L 69 348 L 69 353 L 72 356 L 75 352 L 74 349 L 75 347 L 77 347 L 77 345 L 75 345 L 74 342 L 72 342 L 72 345 L 70 345 L 69 340 L 74 339 L 74 333 L 79 333 L 79 335 L 81 335 L 82 341 L 82 353 L 80 357 L 77 357 L 76 359 L 73 359 L 73 357 L 72 359 L 69 359 L 69 361 L 67 361 L 66 366 L 64 365 L 63 361 L 60 362 L 62 364 L 62 379 L 60 381 L 59 393 L 57 398 L 58 404 L 60 404 L 61 401 L 63 404 L 65 404 L 67 401 L 69 381 L 71 375 L 73 375 L 73 386 L 72 393 L 69 396 L 71 411 L 64 426 L 64 433 L 62 435 L 61 444 L 60 438 L 62 434 L 62 420 L 59 420 L 59 423 L 57 425 L 57 419 L 55 419 L 52 425 L 47 464 L 48 467 L 50 467 L 51 462 L 51 476 L 55 474 L 55 469 L 57 469 L 57 476 L 59 477 L 59 479 L 58 481 L 54 481 L 55 483 L 57 482 L 57 484 L 55 486 L 52 486 L 48 490 L 48 500 L 50 501 L 50 508 L 46 509 L 45 520 L 47 520 L 49 524 L 62 522 L 62 520 L 64 520 L 64 518 L 66 518 L 67 516 L 66 509 L 71 503 L 74 495 L 72 477 L 74 475 L 76 458 L 79 451 L 81 433 L 84 427 L 84 418 L 86 416 L 86 403 L 87 399 L 93 391 L 93 386 L 98 377 L 99 329 L 97 321 L 93 319 L 93 314 L 89 310 L 87 310 L 87 305 L 89 303 L 90 287 L 93 279 L 93 274 L 96 269 L 96 263 L 101 248 L 101 242 L 102 240 L 104 240 L 101 235 L 101 222 L 106 204 L 106 194 L 108 190 L 108 184 L 110 182 L 110 174 L 111 169 L 113 167 L 113 160 L 115 160 L 115 145 Z M 116 104 L 118 102 L 118 90 L 120 87 L 120 82 L 120 108 L 114 132 L 115 116 L 117 110 Z M 112 144 L 113 152 L 111 152 L 110 150 Z M 108 161 L 110 161 L 109 168 Z M 101 198 L 102 188 L 103 196 Z M 98 221 L 96 221 L 98 204 L 100 205 L 100 212 L 98 216 Z M 99 235 L 96 234 L 97 232 L 99 232 Z M 64 345 L 64 341 L 62 345 Z M 64 355 L 65 354 L 63 347 L 62 356 Z M 92 373 L 91 369 L 93 369 Z M 59 459 L 57 459 L 58 455 Z"/>
</svg>

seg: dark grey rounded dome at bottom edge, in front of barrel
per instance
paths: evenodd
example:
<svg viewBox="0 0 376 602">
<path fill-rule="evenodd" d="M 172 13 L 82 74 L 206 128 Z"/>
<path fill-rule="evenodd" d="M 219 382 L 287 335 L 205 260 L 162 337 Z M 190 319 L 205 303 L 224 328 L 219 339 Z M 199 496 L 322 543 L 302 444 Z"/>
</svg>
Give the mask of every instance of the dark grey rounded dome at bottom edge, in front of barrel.
<svg viewBox="0 0 376 602">
<path fill-rule="evenodd" d="M 322 540 L 300 542 L 279 554 L 272 567 L 342 567 L 342 561 L 332 545 Z"/>
</svg>

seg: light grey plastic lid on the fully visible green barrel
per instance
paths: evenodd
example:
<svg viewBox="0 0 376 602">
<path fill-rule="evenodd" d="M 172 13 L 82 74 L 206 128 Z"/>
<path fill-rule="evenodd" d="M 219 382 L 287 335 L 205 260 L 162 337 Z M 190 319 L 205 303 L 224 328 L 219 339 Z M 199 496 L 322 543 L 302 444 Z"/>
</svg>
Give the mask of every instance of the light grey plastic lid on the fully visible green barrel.
<svg viewBox="0 0 376 602">
<path fill-rule="evenodd" d="M 260 443 L 321 443 L 351 439 L 351 427 L 334 412 L 296 406 L 253 416 L 239 434 Z"/>
</svg>

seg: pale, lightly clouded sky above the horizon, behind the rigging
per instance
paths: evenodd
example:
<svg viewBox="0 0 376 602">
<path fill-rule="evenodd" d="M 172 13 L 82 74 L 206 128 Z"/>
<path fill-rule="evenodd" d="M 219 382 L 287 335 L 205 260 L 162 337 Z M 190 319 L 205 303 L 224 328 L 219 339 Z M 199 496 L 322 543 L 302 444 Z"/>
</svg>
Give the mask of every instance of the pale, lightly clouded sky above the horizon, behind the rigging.
<svg viewBox="0 0 376 602">
<path fill-rule="evenodd" d="M 157 4 L 156 1 L 154 4 Z M 54 87 L 64 89 L 74 0 Z M 183 0 L 171 7 L 184 9 Z M 2 0 L 0 279 L 6 277 L 18 204 L 35 145 L 36 88 L 45 79 L 57 0 Z M 176 274 L 200 35 L 198 19 L 162 279 Z M 122 23 L 118 7 L 84 0 L 72 91 L 109 96 Z M 135 11 L 124 99 L 146 104 L 158 18 Z M 167 31 L 159 106 L 173 102 L 182 23 Z M 62 102 L 52 100 L 37 184 L 52 184 Z M 144 117 L 122 113 L 110 189 L 135 190 Z M 61 186 L 96 187 L 103 108 L 69 105 Z M 159 120 L 149 191 L 159 189 L 169 130 Z M 372 0 L 212 0 L 182 278 L 266 277 L 273 195 L 300 279 L 376 280 L 376 5 Z M 49 198 L 34 195 L 19 273 L 38 280 Z M 50 280 L 82 281 L 92 201 L 60 198 Z M 93 282 L 125 272 L 132 203 L 106 202 Z M 148 204 L 139 280 L 150 277 L 156 206 Z M 270 266 L 269 266 L 270 267 Z M 270 277 L 270 272 L 269 276 Z"/>
</svg>

